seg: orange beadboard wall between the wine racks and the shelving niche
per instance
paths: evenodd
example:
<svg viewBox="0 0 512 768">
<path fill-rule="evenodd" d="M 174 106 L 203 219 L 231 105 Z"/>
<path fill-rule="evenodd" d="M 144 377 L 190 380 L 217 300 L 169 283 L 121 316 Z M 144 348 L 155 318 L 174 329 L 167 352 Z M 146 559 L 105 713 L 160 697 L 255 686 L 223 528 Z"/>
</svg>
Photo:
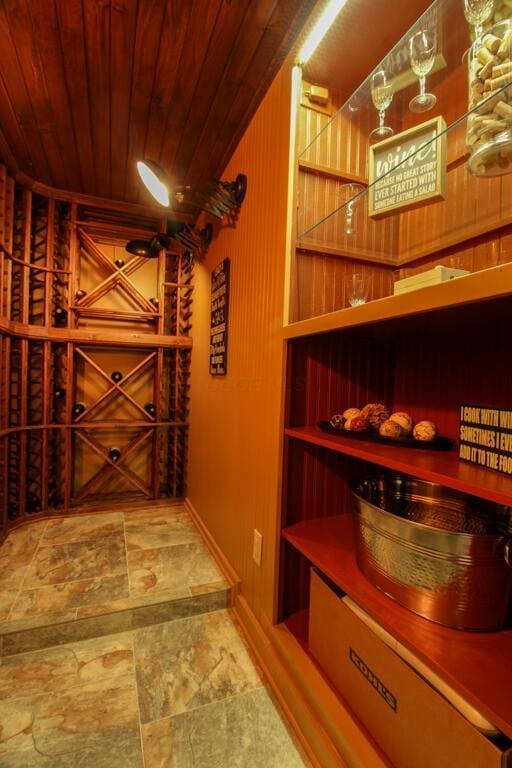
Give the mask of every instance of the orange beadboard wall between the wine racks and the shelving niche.
<svg viewBox="0 0 512 768">
<path fill-rule="evenodd" d="M 248 188 L 195 269 L 188 497 L 242 580 L 258 617 L 271 619 L 281 460 L 283 321 L 291 65 L 260 105 L 223 178 Z M 228 373 L 209 375 L 210 274 L 231 260 Z M 252 560 L 253 530 L 263 564 Z"/>
</svg>

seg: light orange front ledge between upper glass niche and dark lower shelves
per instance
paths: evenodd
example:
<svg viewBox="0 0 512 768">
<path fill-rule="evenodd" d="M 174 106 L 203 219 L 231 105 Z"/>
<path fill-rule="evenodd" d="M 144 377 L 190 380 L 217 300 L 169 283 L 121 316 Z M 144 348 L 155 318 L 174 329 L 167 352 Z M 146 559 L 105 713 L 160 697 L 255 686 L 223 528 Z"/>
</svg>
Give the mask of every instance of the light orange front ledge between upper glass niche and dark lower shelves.
<svg viewBox="0 0 512 768">
<path fill-rule="evenodd" d="M 283 328 L 285 339 L 312 336 L 327 331 L 344 330 L 383 323 L 399 318 L 486 301 L 512 293 L 512 263 L 474 272 L 466 277 L 449 280 L 417 291 L 386 296 L 337 312 L 301 320 Z"/>
</svg>

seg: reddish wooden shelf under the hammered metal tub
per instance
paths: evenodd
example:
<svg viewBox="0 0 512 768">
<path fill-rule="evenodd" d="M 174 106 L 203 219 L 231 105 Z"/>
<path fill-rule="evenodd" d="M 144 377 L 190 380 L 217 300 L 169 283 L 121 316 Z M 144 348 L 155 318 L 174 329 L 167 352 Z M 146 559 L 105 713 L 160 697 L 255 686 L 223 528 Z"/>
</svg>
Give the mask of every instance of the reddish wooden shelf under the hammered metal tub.
<svg viewBox="0 0 512 768">
<path fill-rule="evenodd" d="M 373 587 L 354 555 L 351 515 L 297 523 L 283 536 L 482 714 L 512 738 L 512 630 L 462 632 L 402 608 Z M 297 622 L 303 634 L 303 617 Z M 290 625 L 290 620 L 287 626 Z M 290 627 L 289 627 L 290 628 Z"/>
</svg>

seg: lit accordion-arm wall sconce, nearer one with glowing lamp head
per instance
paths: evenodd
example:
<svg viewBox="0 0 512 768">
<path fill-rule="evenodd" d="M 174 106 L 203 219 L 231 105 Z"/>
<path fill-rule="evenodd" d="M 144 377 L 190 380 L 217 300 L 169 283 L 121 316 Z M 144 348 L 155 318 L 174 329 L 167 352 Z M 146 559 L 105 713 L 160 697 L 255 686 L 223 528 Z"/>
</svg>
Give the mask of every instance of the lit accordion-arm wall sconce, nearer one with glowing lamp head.
<svg viewBox="0 0 512 768">
<path fill-rule="evenodd" d="M 176 203 L 199 208 L 217 219 L 240 207 L 247 190 L 247 176 L 243 173 L 234 181 L 215 180 L 197 188 L 178 186 L 171 190 L 167 174 L 153 160 L 139 160 L 137 170 L 144 186 L 160 205 L 168 208 L 172 196 Z"/>
</svg>

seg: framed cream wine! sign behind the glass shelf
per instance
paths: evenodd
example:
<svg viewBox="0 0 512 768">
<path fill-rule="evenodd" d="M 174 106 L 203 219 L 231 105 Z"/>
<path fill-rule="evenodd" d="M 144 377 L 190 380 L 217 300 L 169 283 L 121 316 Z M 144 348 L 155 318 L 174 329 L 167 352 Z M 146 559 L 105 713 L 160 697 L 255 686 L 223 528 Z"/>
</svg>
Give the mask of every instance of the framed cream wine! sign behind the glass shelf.
<svg viewBox="0 0 512 768">
<path fill-rule="evenodd" d="M 445 131 L 445 121 L 436 117 L 370 147 L 370 216 L 383 216 L 401 208 L 413 208 L 427 200 L 444 198 Z"/>
</svg>

